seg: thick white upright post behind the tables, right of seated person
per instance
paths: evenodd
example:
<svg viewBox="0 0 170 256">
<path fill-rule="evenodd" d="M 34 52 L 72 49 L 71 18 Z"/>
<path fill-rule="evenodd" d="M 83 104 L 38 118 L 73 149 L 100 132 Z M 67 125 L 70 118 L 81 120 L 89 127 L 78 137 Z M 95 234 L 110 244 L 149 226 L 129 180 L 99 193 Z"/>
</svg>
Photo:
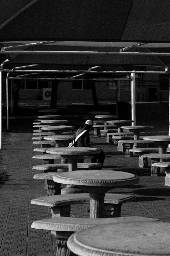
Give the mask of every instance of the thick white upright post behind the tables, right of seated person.
<svg viewBox="0 0 170 256">
<path fill-rule="evenodd" d="M 132 120 L 134 123 L 132 125 L 136 125 L 136 82 L 135 82 L 135 73 L 131 74 L 131 105 L 132 105 Z"/>
</svg>

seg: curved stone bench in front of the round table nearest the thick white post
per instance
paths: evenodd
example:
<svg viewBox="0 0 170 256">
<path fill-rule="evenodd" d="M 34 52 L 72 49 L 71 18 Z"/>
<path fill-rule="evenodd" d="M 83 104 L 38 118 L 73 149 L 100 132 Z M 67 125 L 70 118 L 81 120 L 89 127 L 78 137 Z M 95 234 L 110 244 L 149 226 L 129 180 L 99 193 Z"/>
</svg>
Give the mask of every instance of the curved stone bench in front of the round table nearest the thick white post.
<svg viewBox="0 0 170 256">
<path fill-rule="evenodd" d="M 134 144 L 136 145 L 134 146 Z M 147 145 L 148 147 L 150 147 L 153 144 L 154 144 L 153 141 L 142 140 L 142 139 L 141 140 L 119 140 L 117 150 L 120 152 L 125 152 L 125 156 L 130 157 L 133 155 L 132 152 L 129 152 L 131 148 L 142 147 L 143 145 L 144 146 Z"/>
</svg>

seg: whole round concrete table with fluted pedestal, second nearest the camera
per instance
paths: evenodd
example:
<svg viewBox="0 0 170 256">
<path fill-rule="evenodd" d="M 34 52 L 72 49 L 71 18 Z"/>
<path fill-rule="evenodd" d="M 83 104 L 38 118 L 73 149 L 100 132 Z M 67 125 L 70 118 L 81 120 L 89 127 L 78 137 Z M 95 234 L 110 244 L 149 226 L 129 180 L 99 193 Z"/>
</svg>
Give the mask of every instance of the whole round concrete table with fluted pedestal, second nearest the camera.
<svg viewBox="0 0 170 256">
<path fill-rule="evenodd" d="M 86 170 L 56 173 L 53 181 L 77 185 L 90 196 L 90 218 L 104 217 L 104 197 L 107 190 L 139 182 L 138 176 L 114 170 Z"/>
</svg>

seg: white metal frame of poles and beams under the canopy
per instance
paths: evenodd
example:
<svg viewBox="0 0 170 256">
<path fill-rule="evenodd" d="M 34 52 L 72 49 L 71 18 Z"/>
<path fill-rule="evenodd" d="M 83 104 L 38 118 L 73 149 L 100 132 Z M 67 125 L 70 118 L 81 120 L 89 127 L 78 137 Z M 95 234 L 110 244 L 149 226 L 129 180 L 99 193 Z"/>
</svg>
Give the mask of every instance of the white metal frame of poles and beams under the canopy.
<svg viewBox="0 0 170 256">
<path fill-rule="evenodd" d="M 53 43 L 56 41 L 47 41 L 47 42 L 38 42 L 38 43 L 33 43 L 32 45 L 37 45 L 37 44 L 45 44 L 45 43 Z M 141 44 L 146 44 L 146 43 L 140 43 L 137 45 L 133 45 L 131 47 L 137 47 L 140 46 Z M 27 45 L 31 45 L 31 44 L 27 44 Z M 155 53 L 155 52 L 150 52 L 150 53 L 141 53 L 141 52 L 126 52 L 126 49 L 131 48 L 131 47 L 125 47 L 123 49 L 120 49 L 120 52 L 94 52 L 94 51 L 26 51 L 26 50 L 13 50 L 14 48 L 18 48 L 21 47 L 23 45 L 17 45 L 17 46 L 9 46 L 9 47 L 4 47 L 1 48 L 0 53 L 1 54 L 75 54 L 75 55 L 79 55 L 79 54 L 83 54 L 83 55 L 138 55 L 138 56 L 170 56 L 170 53 Z M 26 44 L 24 44 L 24 46 L 26 46 Z M 8 50 L 10 49 L 10 51 Z M 133 125 L 135 125 L 136 122 L 136 115 L 135 115 L 135 103 L 136 103 L 136 99 L 135 99 L 135 74 L 136 73 L 148 73 L 148 74 L 163 74 L 163 73 L 167 73 L 168 72 L 168 68 L 166 65 L 163 64 L 163 67 L 165 68 L 165 71 L 98 71 L 98 70 L 92 70 L 94 68 L 98 68 L 98 66 L 96 67 L 92 67 L 89 68 L 88 70 L 25 70 L 24 68 L 27 67 L 33 67 L 33 66 L 38 66 L 39 64 L 35 64 L 35 65 L 28 65 L 28 66 L 21 66 L 21 67 L 16 67 L 13 68 L 12 70 L 10 69 L 3 69 L 3 66 L 6 64 L 6 62 L 3 62 L 0 66 L 0 149 L 2 147 L 2 72 L 8 72 L 7 77 L 6 77 L 6 94 L 7 94 L 7 98 L 8 98 L 8 79 L 12 79 L 12 80 L 23 80 L 22 77 L 11 77 L 9 76 L 9 74 L 11 75 L 11 73 L 13 74 L 17 74 L 19 73 L 26 73 L 24 75 L 29 75 L 29 73 L 34 74 L 34 73 L 81 73 L 79 75 L 73 76 L 72 78 L 69 79 L 60 79 L 60 78 L 55 78 L 55 79 L 38 79 L 35 77 L 24 77 L 25 80 L 27 79 L 31 79 L 31 80 L 56 80 L 56 81 L 85 81 L 83 78 L 82 79 L 77 79 L 75 77 L 77 76 L 81 76 L 83 74 L 131 74 L 131 79 L 128 77 L 126 79 L 88 79 L 88 81 L 113 81 L 113 80 L 131 80 L 131 102 L 132 102 L 132 119 L 134 120 Z M 21 75 L 23 76 L 23 75 Z M 117 97 L 120 97 L 120 88 L 119 88 L 119 82 L 117 83 Z M 7 102 L 7 129 L 8 129 L 8 99 L 6 99 Z M 170 111 L 170 105 L 169 105 L 169 111 Z M 170 122 L 170 116 L 169 116 L 169 122 Z M 169 126 L 169 134 L 170 134 L 170 126 Z"/>
</svg>

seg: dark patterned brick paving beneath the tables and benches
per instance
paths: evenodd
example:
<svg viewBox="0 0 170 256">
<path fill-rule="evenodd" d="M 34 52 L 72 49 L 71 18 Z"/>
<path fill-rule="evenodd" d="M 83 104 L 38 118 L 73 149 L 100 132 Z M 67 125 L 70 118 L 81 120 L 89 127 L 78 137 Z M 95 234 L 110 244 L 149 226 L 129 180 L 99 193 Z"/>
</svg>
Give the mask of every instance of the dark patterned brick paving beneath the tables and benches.
<svg viewBox="0 0 170 256">
<path fill-rule="evenodd" d="M 21 122 L 22 123 L 22 122 Z M 0 256 L 54 256 L 55 239 L 46 230 L 31 229 L 34 220 L 48 218 L 48 208 L 30 204 L 31 199 L 46 194 L 44 183 L 34 180 L 38 173 L 32 166 L 41 164 L 32 159 L 32 120 L 14 122 L 10 144 L 0 152 L 0 168 L 7 171 L 7 180 L 0 183 Z M 124 153 L 105 142 L 93 138 L 92 145 L 106 153 L 103 169 L 122 170 L 139 175 L 140 182 L 133 186 L 109 192 L 135 195 L 133 202 L 124 203 L 121 216 L 143 216 L 170 222 L 170 188 L 164 186 L 164 177 L 149 176 L 147 169 L 138 167 L 138 158 L 125 158 Z M 71 208 L 74 217 L 89 217 L 88 205 Z"/>
</svg>

